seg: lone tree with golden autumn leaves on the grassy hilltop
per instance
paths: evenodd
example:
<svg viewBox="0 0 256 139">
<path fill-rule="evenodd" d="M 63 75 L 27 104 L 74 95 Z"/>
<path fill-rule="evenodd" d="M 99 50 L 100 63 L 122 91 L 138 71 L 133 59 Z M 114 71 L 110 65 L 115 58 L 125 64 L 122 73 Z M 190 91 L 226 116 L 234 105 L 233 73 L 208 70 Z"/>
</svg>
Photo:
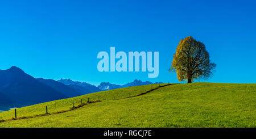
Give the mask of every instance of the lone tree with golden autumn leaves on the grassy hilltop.
<svg viewBox="0 0 256 139">
<path fill-rule="evenodd" d="M 189 36 L 180 40 L 169 71 L 176 71 L 179 81 L 191 83 L 195 79 L 209 78 L 215 67 L 216 64 L 209 60 L 205 45 Z"/>
</svg>

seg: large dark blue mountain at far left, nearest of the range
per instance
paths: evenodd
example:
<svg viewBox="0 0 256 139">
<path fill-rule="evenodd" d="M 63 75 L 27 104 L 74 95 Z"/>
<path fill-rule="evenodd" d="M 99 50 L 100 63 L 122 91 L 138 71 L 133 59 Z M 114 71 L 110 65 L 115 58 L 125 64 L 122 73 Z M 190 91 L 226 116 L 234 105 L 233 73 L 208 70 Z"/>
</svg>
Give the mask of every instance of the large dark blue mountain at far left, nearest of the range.
<svg viewBox="0 0 256 139">
<path fill-rule="evenodd" d="M 7 101 L 5 105 L 10 107 L 68 98 L 15 66 L 7 70 L 0 70 L 0 92 L 6 98 L 4 99 Z"/>
</svg>

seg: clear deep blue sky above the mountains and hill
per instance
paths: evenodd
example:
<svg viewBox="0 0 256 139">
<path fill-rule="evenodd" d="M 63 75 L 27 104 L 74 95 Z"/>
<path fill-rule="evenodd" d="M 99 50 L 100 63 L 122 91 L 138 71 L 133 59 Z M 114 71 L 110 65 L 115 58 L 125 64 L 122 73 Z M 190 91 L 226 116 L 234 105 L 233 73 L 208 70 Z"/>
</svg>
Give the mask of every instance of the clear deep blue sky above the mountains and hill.
<svg viewBox="0 0 256 139">
<path fill-rule="evenodd" d="M 201 82 L 256 82 L 255 1 L 1 1 L 0 69 L 98 85 L 178 82 L 168 73 L 180 39 L 202 41 L 217 64 Z M 159 76 L 100 73 L 100 51 L 158 51 Z"/>
</svg>

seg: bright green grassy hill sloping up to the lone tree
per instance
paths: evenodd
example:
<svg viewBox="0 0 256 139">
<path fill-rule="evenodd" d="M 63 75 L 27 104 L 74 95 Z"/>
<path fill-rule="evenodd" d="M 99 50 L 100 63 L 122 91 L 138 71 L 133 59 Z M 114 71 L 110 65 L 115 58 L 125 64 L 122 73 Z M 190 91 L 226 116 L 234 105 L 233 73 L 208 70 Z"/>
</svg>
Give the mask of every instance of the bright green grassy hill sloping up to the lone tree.
<svg viewBox="0 0 256 139">
<path fill-rule="evenodd" d="M 18 108 L 17 116 L 24 119 L 4 121 L 0 127 L 256 127 L 256 84 L 177 84 L 139 95 L 158 86 L 127 87 Z M 101 102 L 55 114 L 71 109 L 72 102 L 77 106 L 81 99 L 85 103 L 98 96 Z M 42 115 L 46 106 L 51 115 Z M 14 110 L 0 112 L 0 120 L 12 117 Z"/>
</svg>

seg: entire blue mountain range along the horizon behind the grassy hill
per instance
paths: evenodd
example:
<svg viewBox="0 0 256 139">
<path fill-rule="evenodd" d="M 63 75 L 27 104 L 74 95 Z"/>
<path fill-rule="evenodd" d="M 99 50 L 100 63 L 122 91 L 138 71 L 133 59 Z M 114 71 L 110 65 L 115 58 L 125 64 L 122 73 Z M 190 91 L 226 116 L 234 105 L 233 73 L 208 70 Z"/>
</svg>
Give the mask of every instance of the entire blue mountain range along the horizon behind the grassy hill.
<svg viewBox="0 0 256 139">
<path fill-rule="evenodd" d="M 134 82 L 125 85 L 102 82 L 96 87 L 86 82 L 77 82 L 71 79 L 55 81 L 53 79 L 34 78 L 22 69 L 12 66 L 10 69 L 0 70 L 0 111 L 8 110 L 5 109 L 6 107 L 23 107 L 103 90 L 150 84 L 152 82 L 142 82 L 135 79 Z"/>
</svg>

